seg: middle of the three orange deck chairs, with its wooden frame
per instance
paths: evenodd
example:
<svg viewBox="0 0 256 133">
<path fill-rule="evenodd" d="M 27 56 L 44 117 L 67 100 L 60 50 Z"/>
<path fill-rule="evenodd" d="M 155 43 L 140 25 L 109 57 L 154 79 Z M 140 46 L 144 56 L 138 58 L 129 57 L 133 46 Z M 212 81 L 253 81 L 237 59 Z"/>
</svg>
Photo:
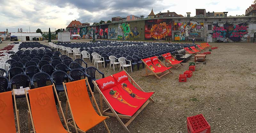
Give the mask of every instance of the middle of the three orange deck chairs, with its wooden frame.
<svg viewBox="0 0 256 133">
<path fill-rule="evenodd" d="M 30 115 L 30 118 L 28 118 L 28 122 L 30 122 L 31 119 L 33 127 L 32 132 L 34 133 L 71 133 L 69 132 L 57 91 L 56 89 L 54 89 L 59 103 L 60 113 L 64 119 L 64 123 L 67 129 L 64 129 L 60 121 L 60 116 L 58 115 L 53 96 L 53 86 L 54 85 L 50 85 L 41 88 L 25 90 L 28 103 L 28 111 Z M 29 93 L 30 105 L 27 92 Z M 28 129 L 30 132 L 30 127 Z"/>
</svg>

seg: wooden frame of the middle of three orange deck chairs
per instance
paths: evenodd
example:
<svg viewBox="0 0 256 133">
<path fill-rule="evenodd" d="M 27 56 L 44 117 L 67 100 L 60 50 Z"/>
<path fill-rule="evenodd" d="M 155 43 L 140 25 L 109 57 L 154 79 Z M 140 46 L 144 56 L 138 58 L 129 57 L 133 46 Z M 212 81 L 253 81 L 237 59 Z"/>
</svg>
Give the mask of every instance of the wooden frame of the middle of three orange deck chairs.
<svg viewBox="0 0 256 133">
<path fill-rule="evenodd" d="M 65 119 L 65 116 L 64 116 L 62 107 L 61 107 L 61 101 L 59 100 L 59 97 L 58 97 L 58 94 L 57 94 L 57 91 L 56 91 L 56 88 L 55 88 L 54 83 L 52 84 L 52 87 L 54 88 L 54 92 L 55 92 L 55 95 L 56 95 L 57 100 L 58 100 L 58 103 L 59 103 L 59 107 L 60 107 L 59 113 L 61 113 L 62 118 L 64 119 L 63 121 L 64 121 L 65 126 L 66 126 L 66 128 L 67 128 L 66 131 L 67 131 L 68 133 L 71 133 L 71 132 L 69 131 L 69 129 L 68 129 L 68 124 L 67 124 L 67 122 L 66 122 L 66 119 Z M 28 131 L 29 131 L 30 133 L 32 133 L 32 132 L 36 133 L 35 126 L 34 126 L 34 122 L 33 122 L 32 113 L 31 113 L 31 109 L 30 109 L 30 105 L 29 105 L 29 101 L 28 101 L 28 94 L 27 94 L 27 93 L 28 93 L 28 90 L 25 90 L 26 100 L 27 100 L 27 103 L 28 103 Z M 60 114 L 59 114 L 59 117 L 60 117 Z M 31 119 L 33 131 L 30 131 L 30 119 Z"/>
</svg>

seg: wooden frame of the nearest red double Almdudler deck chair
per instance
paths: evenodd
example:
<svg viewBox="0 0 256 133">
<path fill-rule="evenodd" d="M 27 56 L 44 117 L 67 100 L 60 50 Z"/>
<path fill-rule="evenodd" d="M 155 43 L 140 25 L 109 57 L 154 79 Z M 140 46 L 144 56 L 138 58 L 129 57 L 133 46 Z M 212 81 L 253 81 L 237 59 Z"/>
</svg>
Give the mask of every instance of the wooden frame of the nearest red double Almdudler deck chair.
<svg viewBox="0 0 256 133">
<path fill-rule="evenodd" d="M 124 70 L 124 72 L 127 74 L 128 79 L 131 80 L 132 85 L 134 84 L 140 91 L 145 92 L 142 88 L 140 88 L 140 86 L 132 79 L 132 77 L 125 70 Z M 108 115 L 108 116 L 116 117 L 117 120 L 120 122 L 120 124 L 122 125 L 122 127 L 124 128 L 124 130 L 127 133 L 130 133 L 130 131 L 127 127 L 136 118 L 136 116 L 138 116 L 140 114 L 140 112 L 148 105 L 148 103 L 150 101 L 152 101 L 153 103 L 155 102 L 151 97 L 149 97 L 149 99 L 141 106 L 141 108 L 133 116 L 117 114 L 116 111 L 111 107 L 111 105 L 108 102 L 108 100 L 106 99 L 106 97 L 100 91 L 100 88 L 98 87 L 97 82 L 96 81 L 92 81 L 92 82 L 93 82 L 94 86 L 96 87 L 96 89 L 98 90 L 98 92 L 100 93 L 100 112 L 102 113 L 102 115 Z M 103 110 L 103 101 L 102 101 L 102 99 L 106 102 L 106 104 L 109 107 L 106 110 Z M 109 110 L 111 110 L 112 113 L 107 112 Z M 124 124 L 124 122 L 120 118 L 129 119 L 129 120 Z"/>
</svg>

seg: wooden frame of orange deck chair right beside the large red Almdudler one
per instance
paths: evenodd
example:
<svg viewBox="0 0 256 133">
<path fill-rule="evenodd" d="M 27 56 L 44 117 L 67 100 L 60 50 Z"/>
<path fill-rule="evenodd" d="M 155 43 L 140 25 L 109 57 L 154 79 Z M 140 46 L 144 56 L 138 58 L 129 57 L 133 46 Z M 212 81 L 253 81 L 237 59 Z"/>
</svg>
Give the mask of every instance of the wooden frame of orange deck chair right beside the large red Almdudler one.
<svg viewBox="0 0 256 133">
<path fill-rule="evenodd" d="M 95 100 L 95 97 L 94 97 L 94 95 L 93 95 L 93 92 L 92 92 L 92 89 L 91 89 L 91 87 L 90 87 L 90 85 L 89 85 L 89 82 L 88 82 L 87 77 L 85 78 L 85 81 L 86 81 L 86 83 L 87 83 L 87 85 L 88 85 L 88 88 L 89 88 L 91 94 L 92 94 L 92 101 L 91 101 L 91 102 L 92 102 L 92 103 L 93 103 L 93 102 L 95 103 L 96 108 L 97 108 L 97 110 L 98 110 L 100 116 L 103 116 L 103 115 L 101 114 L 100 108 L 99 108 L 99 106 L 98 106 L 98 104 L 97 104 L 97 102 L 96 102 L 96 100 Z M 66 98 L 67 98 L 67 102 L 66 102 L 66 114 L 65 114 L 66 122 L 67 122 L 67 124 L 70 125 L 72 128 L 76 129 L 76 133 L 78 133 L 78 131 L 81 132 L 81 133 L 86 133 L 85 131 L 83 131 L 82 129 L 79 129 L 79 128 L 76 126 L 76 122 L 75 122 L 75 120 L 74 120 L 73 112 L 72 112 L 72 110 L 71 110 L 71 108 L 70 108 L 70 102 L 69 102 L 69 99 L 68 99 L 68 93 L 67 93 L 66 86 L 65 86 L 66 83 L 62 82 L 62 84 L 63 84 L 63 87 L 65 88 L 64 90 L 65 90 L 65 94 L 66 94 Z M 56 89 L 56 88 L 54 87 L 54 89 Z M 68 108 L 69 108 L 69 110 L 70 110 L 70 114 L 71 114 L 71 117 L 72 117 L 72 118 L 69 118 L 69 119 L 68 119 Z M 103 116 L 103 117 L 109 118 L 109 116 Z M 70 120 L 71 120 L 71 121 L 70 121 Z M 68 122 L 68 121 L 69 121 L 69 122 Z M 73 124 L 72 124 L 72 123 L 73 123 Z M 107 125 L 107 123 L 105 122 L 105 120 L 103 121 L 103 123 L 104 123 L 104 125 L 105 125 L 105 127 L 106 127 L 108 133 L 110 133 L 110 131 L 109 131 L 109 129 L 108 129 L 108 125 Z"/>
</svg>

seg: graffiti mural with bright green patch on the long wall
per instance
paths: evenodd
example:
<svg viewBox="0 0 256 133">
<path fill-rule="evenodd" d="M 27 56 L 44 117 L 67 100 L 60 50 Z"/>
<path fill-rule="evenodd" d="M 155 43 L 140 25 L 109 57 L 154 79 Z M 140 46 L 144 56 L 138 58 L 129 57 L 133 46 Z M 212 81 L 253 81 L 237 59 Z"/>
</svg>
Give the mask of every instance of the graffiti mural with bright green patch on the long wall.
<svg viewBox="0 0 256 133">
<path fill-rule="evenodd" d="M 130 33 L 130 24 L 127 24 L 127 23 L 118 24 L 117 39 L 127 40 L 129 38 L 129 33 Z"/>
</svg>

